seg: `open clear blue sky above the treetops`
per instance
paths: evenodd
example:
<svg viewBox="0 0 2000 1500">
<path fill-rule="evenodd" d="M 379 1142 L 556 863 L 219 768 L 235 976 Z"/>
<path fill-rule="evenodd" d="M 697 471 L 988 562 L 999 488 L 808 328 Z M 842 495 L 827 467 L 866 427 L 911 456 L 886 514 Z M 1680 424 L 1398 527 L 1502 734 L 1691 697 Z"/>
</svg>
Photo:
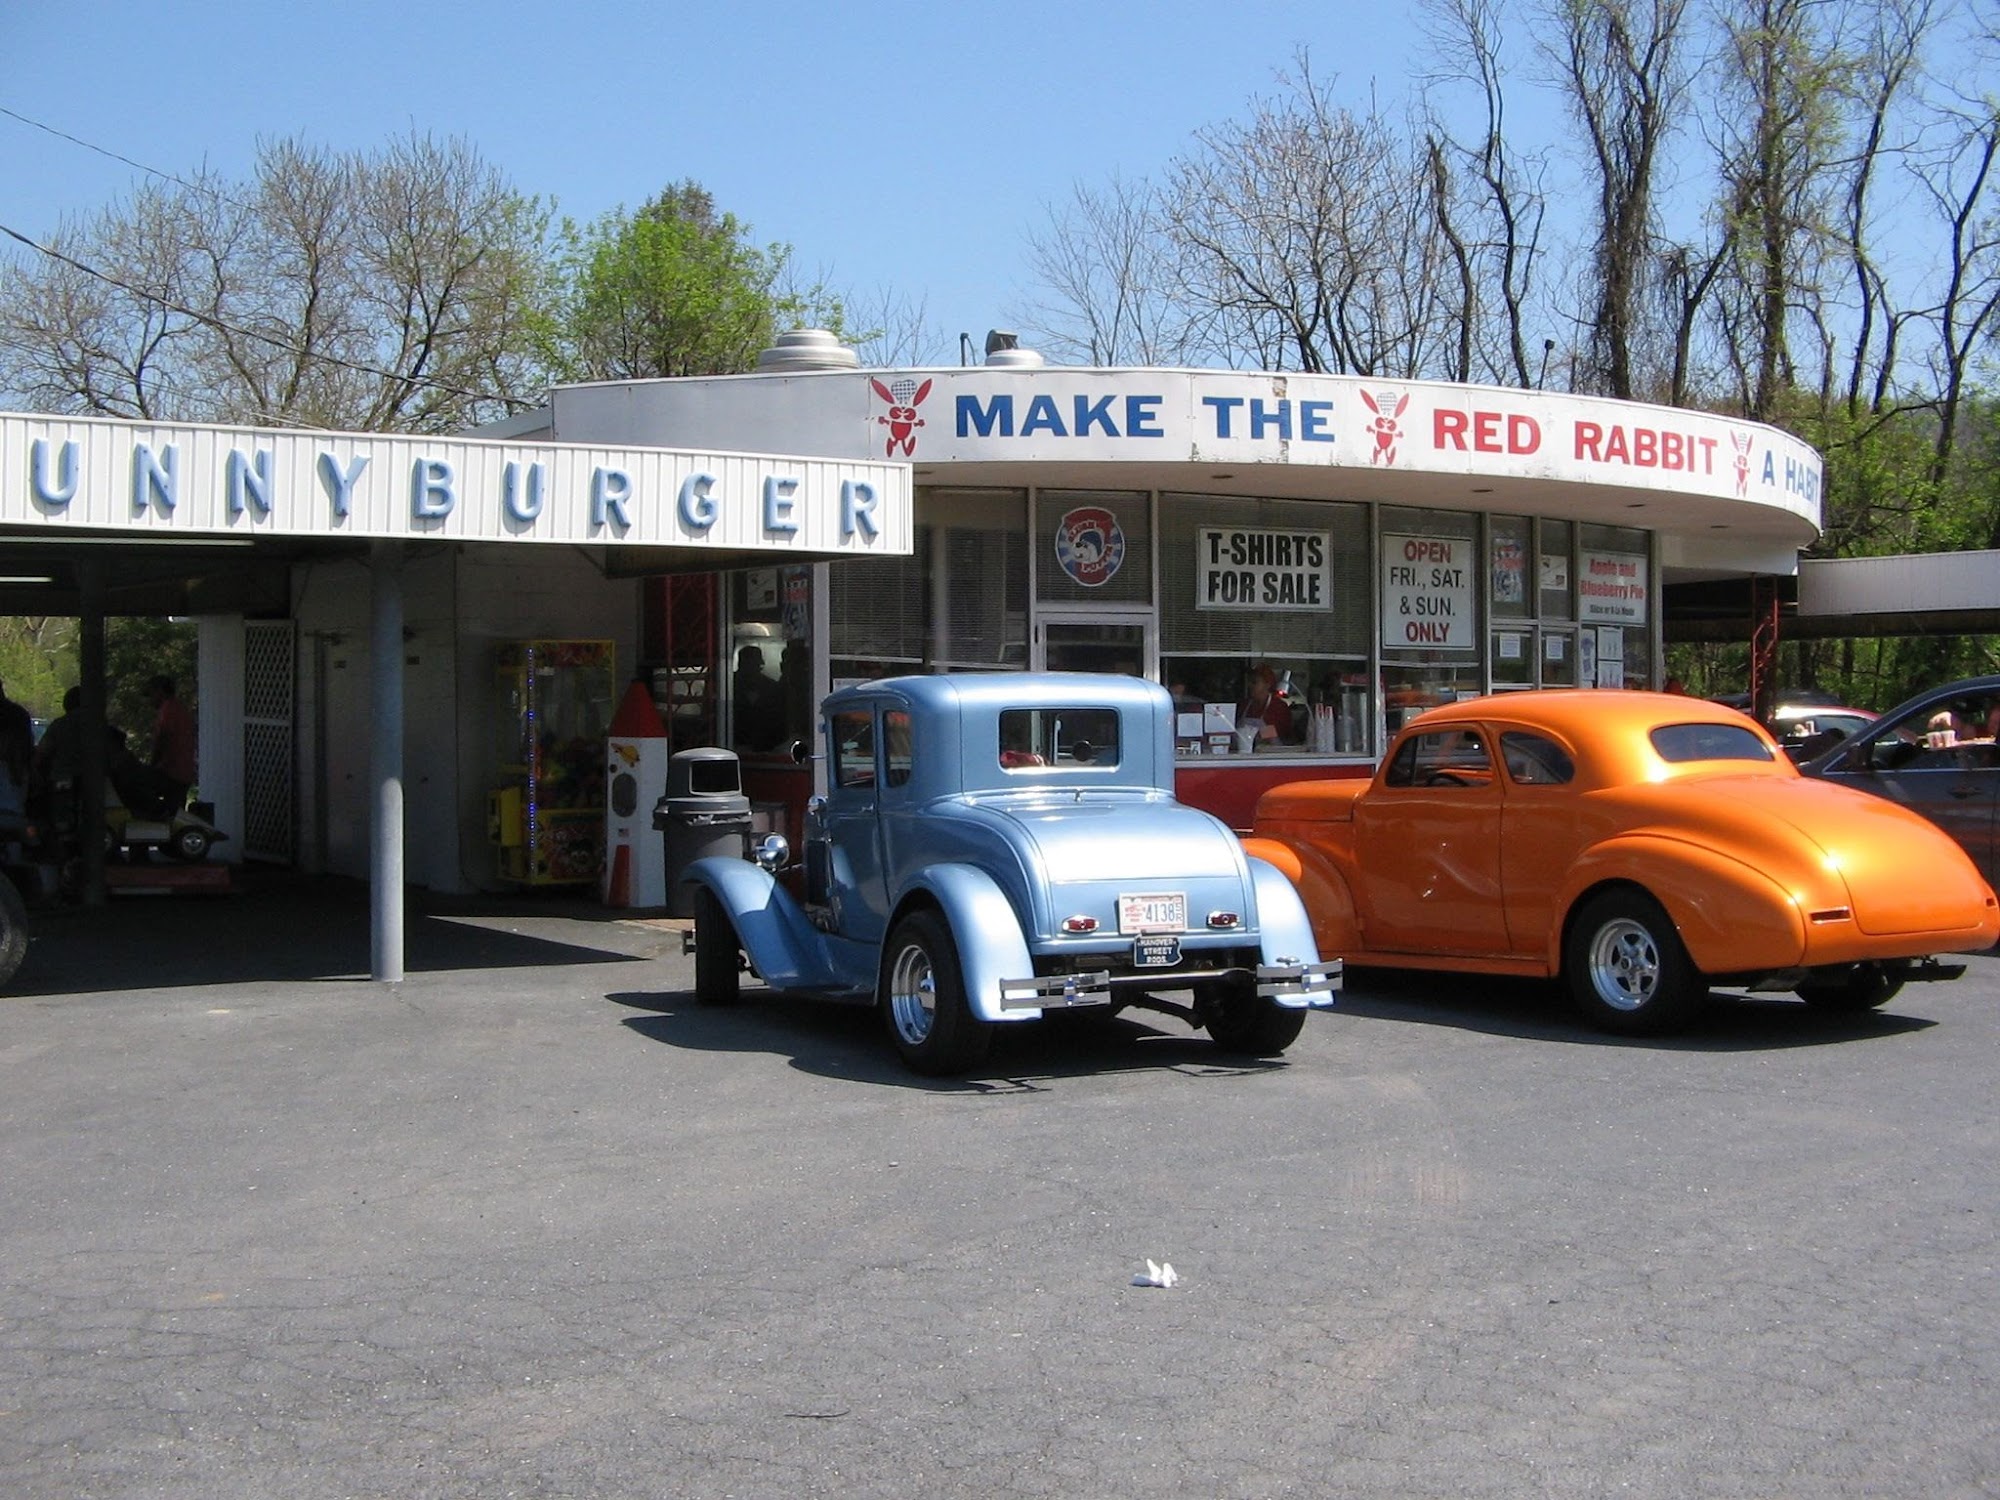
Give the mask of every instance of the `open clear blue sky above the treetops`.
<svg viewBox="0 0 2000 1500">
<path fill-rule="evenodd" d="M 0 106 L 232 178 L 260 138 L 460 134 L 576 218 L 694 178 L 808 272 L 924 302 L 956 358 L 1024 304 L 1042 204 L 1158 172 L 1300 44 L 1356 102 L 1398 100 L 1418 36 L 1406 4 L 1324 0 L 4 0 Z M 46 236 L 138 176 L 0 114 L 8 228 Z"/>
</svg>

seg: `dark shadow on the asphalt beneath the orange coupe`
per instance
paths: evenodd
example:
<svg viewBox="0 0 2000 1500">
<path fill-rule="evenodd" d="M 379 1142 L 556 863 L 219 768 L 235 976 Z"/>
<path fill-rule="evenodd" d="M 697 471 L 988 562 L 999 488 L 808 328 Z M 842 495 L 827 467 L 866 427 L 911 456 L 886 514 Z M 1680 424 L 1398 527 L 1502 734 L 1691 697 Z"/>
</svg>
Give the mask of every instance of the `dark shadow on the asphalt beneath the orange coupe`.
<svg viewBox="0 0 2000 1500">
<path fill-rule="evenodd" d="M 1712 990 L 1708 1004 L 1678 1032 L 1614 1036 L 1578 1018 L 1560 984 L 1486 974 L 1422 974 L 1348 966 L 1336 1008 L 1346 1016 L 1450 1026 L 1494 1036 L 1538 1038 L 1570 1046 L 1624 1046 L 1664 1052 L 1764 1052 L 1834 1042 L 1868 1042 L 1936 1026 L 1924 1016 L 1884 1010 L 1816 1010 L 1788 994 Z"/>
</svg>

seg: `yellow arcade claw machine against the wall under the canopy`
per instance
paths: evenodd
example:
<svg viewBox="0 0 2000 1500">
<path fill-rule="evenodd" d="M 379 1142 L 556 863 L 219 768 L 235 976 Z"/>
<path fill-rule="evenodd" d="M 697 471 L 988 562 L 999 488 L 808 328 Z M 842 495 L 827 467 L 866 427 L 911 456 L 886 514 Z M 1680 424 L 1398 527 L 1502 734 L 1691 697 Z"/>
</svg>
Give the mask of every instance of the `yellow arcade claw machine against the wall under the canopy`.
<svg viewBox="0 0 2000 1500">
<path fill-rule="evenodd" d="M 608 640 L 510 640 L 498 662 L 496 786 L 488 834 L 502 880 L 580 886 L 604 868 Z"/>
</svg>

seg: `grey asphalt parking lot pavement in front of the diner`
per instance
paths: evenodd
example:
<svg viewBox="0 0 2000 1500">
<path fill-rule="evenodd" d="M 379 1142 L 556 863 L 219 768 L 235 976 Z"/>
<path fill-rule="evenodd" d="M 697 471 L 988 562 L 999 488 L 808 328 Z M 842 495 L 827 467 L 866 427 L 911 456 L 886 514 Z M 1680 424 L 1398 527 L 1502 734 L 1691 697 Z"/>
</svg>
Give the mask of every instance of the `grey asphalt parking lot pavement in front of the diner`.
<svg viewBox="0 0 2000 1500">
<path fill-rule="evenodd" d="M 1350 974 L 900 1068 L 678 924 L 360 886 L 40 914 L 6 1496 L 2000 1492 L 2000 958 L 1614 1040 Z M 1172 1288 L 1134 1286 L 1172 1262 Z"/>
</svg>

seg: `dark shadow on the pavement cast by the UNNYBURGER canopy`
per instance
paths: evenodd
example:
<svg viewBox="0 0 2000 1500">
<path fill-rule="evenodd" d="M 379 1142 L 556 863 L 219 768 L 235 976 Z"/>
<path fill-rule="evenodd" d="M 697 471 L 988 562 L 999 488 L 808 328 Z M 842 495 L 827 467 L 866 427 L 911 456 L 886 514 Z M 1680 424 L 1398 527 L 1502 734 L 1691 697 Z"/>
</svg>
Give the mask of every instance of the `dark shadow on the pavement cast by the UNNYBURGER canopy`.
<svg viewBox="0 0 2000 1500">
<path fill-rule="evenodd" d="M 168 990 L 258 980 L 366 980 L 368 886 L 338 876 L 232 872 L 228 894 L 112 896 L 102 906 L 40 906 L 10 998 Z M 432 896 L 404 904 L 404 972 L 630 962 L 666 934 L 636 934 L 582 900 Z M 604 946 L 596 946 L 596 938 Z M 648 944 L 650 940 L 650 944 Z M 674 944 L 678 948 L 678 942 Z"/>
</svg>

